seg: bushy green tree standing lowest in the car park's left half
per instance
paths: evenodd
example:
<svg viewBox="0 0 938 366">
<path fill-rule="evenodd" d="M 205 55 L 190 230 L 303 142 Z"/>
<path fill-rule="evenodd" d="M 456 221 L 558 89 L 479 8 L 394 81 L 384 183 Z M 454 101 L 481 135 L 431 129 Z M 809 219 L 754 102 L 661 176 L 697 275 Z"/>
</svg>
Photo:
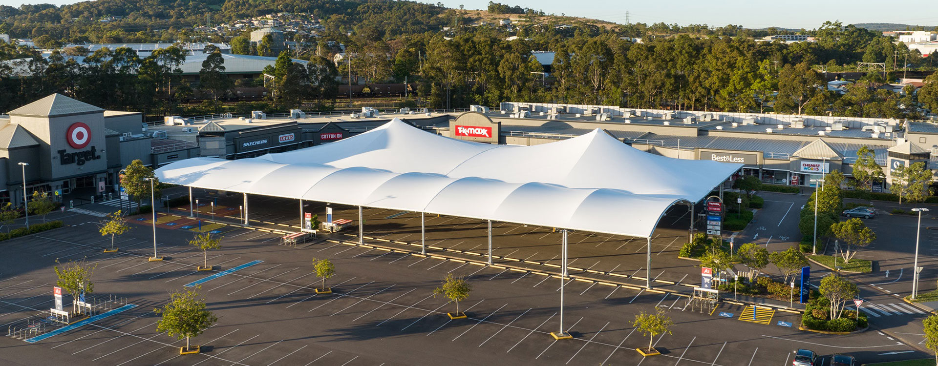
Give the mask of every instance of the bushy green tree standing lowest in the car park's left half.
<svg viewBox="0 0 938 366">
<path fill-rule="evenodd" d="M 186 339 L 186 351 L 189 351 L 189 338 L 202 334 L 205 329 L 219 321 L 219 318 L 205 310 L 204 299 L 193 290 L 175 291 L 170 295 L 170 302 L 162 309 L 153 312 L 163 315 L 157 322 L 157 331 L 176 339 Z"/>
</svg>

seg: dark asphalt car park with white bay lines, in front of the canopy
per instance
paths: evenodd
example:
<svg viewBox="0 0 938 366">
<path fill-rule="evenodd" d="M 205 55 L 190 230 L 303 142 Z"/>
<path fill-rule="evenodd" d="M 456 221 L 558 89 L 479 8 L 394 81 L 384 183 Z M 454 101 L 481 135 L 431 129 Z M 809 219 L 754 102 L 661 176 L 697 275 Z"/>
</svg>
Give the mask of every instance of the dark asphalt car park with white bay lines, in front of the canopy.
<svg viewBox="0 0 938 366">
<path fill-rule="evenodd" d="M 8 351 L 0 358 L 113 365 L 764 365 L 790 364 L 791 352 L 805 347 L 864 361 L 910 350 L 875 332 L 840 337 L 804 332 L 796 329 L 794 314 L 743 321 L 746 309 L 735 305 L 701 314 L 685 309 L 686 299 L 673 294 L 577 280 L 568 280 L 564 289 L 564 329 L 575 338 L 555 341 L 549 332 L 560 327 L 561 279 L 554 276 L 371 245 L 283 246 L 276 244 L 280 234 L 275 232 L 216 229 L 224 240 L 221 249 L 207 254 L 214 273 L 239 270 L 210 280 L 195 271 L 203 256 L 185 245 L 194 232 L 189 229 L 158 227 L 163 262 L 146 261 L 153 250 L 149 227 L 135 226 L 120 237 L 117 254 L 101 252 L 110 241 L 93 225 L 5 242 L 8 256 L 0 258 L 5 323 L 52 306 L 55 258 L 97 264 L 95 295 L 126 298 L 136 307 L 35 344 L 6 337 L 0 346 Z M 336 263 L 338 274 L 327 283 L 332 295 L 313 291 L 319 285 L 310 273 L 314 256 Z M 431 295 L 446 273 L 466 276 L 474 285 L 460 304 L 467 319 L 450 320 L 445 313 L 455 310 L 454 304 Z M 169 291 L 193 283 L 199 283 L 219 322 L 193 340 L 207 346 L 203 354 L 180 356 L 183 341 L 157 333 L 158 315 L 152 311 L 168 300 Z M 653 341 L 663 355 L 643 359 L 634 348 L 648 338 L 631 320 L 656 307 L 667 308 L 676 325 L 672 334 Z M 903 354 L 915 355 L 922 356 Z"/>
</svg>

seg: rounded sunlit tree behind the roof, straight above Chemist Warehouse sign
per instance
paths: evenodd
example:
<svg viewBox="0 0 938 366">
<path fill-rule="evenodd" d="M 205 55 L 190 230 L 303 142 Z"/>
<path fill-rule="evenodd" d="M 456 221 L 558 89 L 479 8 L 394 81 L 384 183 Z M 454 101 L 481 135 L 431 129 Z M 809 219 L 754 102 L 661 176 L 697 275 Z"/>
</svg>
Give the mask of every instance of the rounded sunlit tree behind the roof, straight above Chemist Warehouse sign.
<svg viewBox="0 0 938 366">
<path fill-rule="evenodd" d="M 823 82 L 818 73 L 806 63 L 796 66 L 785 65 L 779 72 L 779 95 L 775 102 L 777 111 L 801 110 L 815 95 L 821 93 Z"/>
</svg>

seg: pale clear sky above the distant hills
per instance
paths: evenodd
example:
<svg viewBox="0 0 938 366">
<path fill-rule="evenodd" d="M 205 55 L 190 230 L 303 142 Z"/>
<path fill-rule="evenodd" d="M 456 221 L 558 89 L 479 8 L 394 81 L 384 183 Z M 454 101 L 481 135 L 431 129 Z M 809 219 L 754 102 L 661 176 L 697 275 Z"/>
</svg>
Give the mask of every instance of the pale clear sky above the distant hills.
<svg viewBox="0 0 938 366">
<path fill-rule="evenodd" d="M 489 0 L 422 0 L 441 1 L 446 7 L 485 9 Z M 742 25 L 746 28 L 777 26 L 813 29 L 825 21 L 844 24 L 860 22 L 896 22 L 938 26 L 938 0 L 906 0 L 890 5 L 882 0 L 818 1 L 788 0 L 780 2 L 752 0 L 669 0 L 666 2 L 622 0 L 500 0 L 503 4 L 533 7 L 548 14 L 566 14 L 607 22 L 630 22 L 687 25 Z M 27 2 L 34 3 L 34 2 Z M 74 0 L 38 0 L 35 3 L 55 5 L 75 3 Z M 23 0 L 0 0 L 0 4 L 19 7 Z M 571 7 L 571 5 L 575 5 Z"/>
</svg>

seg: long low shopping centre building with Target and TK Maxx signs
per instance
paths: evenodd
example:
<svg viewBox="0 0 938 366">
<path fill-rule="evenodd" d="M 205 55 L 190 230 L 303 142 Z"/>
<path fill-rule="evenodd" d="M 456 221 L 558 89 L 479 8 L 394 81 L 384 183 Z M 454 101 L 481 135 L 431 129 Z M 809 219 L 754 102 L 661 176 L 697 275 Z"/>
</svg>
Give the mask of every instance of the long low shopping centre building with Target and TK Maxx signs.
<svg viewBox="0 0 938 366">
<path fill-rule="evenodd" d="M 893 119 L 507 102 L 498 110 L 254 111 L 144 122 L 137 112 L 50 95 L 0 115 L 0 200 L 22 200 L 23 173 L 27 194 L 107 194 L 133 159 L 159 167 L 196 156 L 233 160 L 280 153 L 346 139 L 392 118 L 453 139 L 509 145 L 544 144 L 599 128 L 645 152 L 740 163 L 739 174 L 799 186 L 834 170 L 850 177 L 863 146 L 887 176 L 902 165 L 930 162 L 938 152 L 938 124 Z M 24 172 L 20 162 L 29 164 Z"/>
</svg>

